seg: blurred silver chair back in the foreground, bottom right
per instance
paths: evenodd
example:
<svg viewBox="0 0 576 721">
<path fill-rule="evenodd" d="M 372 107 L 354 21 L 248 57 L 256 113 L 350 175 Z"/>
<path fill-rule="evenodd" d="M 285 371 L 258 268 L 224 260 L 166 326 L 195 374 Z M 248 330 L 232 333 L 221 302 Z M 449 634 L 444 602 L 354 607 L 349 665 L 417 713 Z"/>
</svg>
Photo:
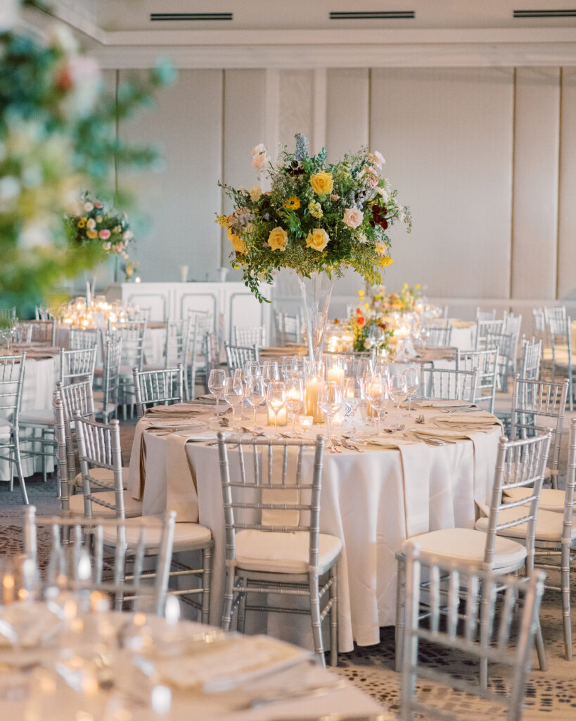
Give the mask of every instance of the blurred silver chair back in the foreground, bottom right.
<svg viewBox="0 0 576 721">
<path fill-rule="evenodd" d="M 420 582 L 425 574 L 430 578 L 430 593 L 427 622 L 422 624 L 420 603 L 423 601 L 423 585 Z M 460 588 L 463 586 L 467 593 L 462 614 Z M 435 707 L 431 694 L 418 696 L 416 682 L 422 678 L 441 684 L 444 689 L 487 699 L 493 704 L 492 708 L 505 709 L 507 721 L 520 721 L 543 591 L 544 573 L 541 572 L 531 572 L 527 578 L 503 576 L 433 556 L 420 557 L 418 544 L 410 547 L 406 554 L 406 624 L 402 639 L 405 654 L 400 679 L 400 720 L 436 718 L 456 721 L 458 718 L 453 709 L 446 713 L 446 709 Z M 501 605 L 497 603 L 498 594 L 504 598 Z M 519 630 L 517 637 L 510 639 L 517 604 L 521 607 Z M 508 666 L 511 672 L 508 693 L 472 684 L 465 678 L 456 678 L 453 673 L 443 672 L 441 665 L 431 668 L 418 663 L 420 642 L 432 649 L 437 648 L 441 653 L 446 649 L 462 653 L 477 660 L 480 665 L 493 662 Z M 466 718 L 470 716 L 466 715 Z"/>
</svg>

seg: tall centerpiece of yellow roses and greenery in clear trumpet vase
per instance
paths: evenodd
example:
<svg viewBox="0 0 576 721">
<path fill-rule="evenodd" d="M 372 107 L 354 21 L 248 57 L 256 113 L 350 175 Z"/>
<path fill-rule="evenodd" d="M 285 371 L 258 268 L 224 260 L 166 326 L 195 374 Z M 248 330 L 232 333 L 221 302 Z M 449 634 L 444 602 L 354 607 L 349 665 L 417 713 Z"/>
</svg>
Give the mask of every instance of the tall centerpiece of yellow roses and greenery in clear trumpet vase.
<svg viewBox="0 0 576 721">
<path fill-rule="evenodd" d="M 260 301 L 260 283 L 271 283 L 281 268 L 292 268 L 302 289 L 311 360 L 322 355 L 328 305 L 335 278 L 353 268 L 375 285 L 392 263 L 387 230 L 397 221 L 410 229 L 408 208 L 382 177 L 384 158 L 360 149 L 336 163 L 322 149 L 311 156 L 306 136 L 296 136 L 296 149 L 283 149 L 272 164 L 264 145 L 252 151 L 260 185 L 251 190 L 220 183 L 233 200 L 233 213 L 218 216 L 233 245 L 233 267 L 243 270 L 244 283 Z"/>
</svg>

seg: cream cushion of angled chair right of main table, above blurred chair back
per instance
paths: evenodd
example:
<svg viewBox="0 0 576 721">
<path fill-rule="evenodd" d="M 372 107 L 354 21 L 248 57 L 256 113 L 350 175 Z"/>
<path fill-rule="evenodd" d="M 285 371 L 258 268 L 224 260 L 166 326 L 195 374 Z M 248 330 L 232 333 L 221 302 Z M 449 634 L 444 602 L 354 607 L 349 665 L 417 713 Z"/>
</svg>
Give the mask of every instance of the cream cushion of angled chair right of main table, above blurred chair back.
<svg viewBox="0 0 576 721">
<path fill-rule="evenodd" d="M 474 528 L 442 528 L 428 534 L 412 536 L 402 544 L 402 552 L 405 553 L 408 547 L 414 544 L 420 546 L 420 554 L 423 556 L 436 556 L 438 559 L 479 566 L 484 562 L 486 534 Z M 519 568 L 525 558 L 526 549 L 522 544 L 497 536 L 492 562 L 494 570 Z"/>
</svg>

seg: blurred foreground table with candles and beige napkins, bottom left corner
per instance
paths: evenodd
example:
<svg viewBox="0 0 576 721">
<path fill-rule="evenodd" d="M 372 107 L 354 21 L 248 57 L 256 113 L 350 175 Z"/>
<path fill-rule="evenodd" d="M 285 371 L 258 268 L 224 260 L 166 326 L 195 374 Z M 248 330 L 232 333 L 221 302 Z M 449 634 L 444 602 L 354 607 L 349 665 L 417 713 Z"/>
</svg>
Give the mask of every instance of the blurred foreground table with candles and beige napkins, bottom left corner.
<svg viewBox="0 0 576 721">
<path fill-rule="evenodd" d="M 30 605 L 35 620 L 27 623 L 26 646 L 0 647 L 4 718 L 392 720 L 362 691 L 312 663 L 310 654 L 271 638 L 224 634 L 187 621 L 168 626 L 143 614 L 137 627 L 131 613 L 83 613 L 66 622 L 45 603 Z M 13 619 L 13 612 L 6 606 L 0 618 Z M 138 635 L 147 645 L 130 650 Z M 168 704 L 154 709 L 153 699 L 166 696 Z M 245 708 L 251 699 L 266 700 Z"/>
</svg>

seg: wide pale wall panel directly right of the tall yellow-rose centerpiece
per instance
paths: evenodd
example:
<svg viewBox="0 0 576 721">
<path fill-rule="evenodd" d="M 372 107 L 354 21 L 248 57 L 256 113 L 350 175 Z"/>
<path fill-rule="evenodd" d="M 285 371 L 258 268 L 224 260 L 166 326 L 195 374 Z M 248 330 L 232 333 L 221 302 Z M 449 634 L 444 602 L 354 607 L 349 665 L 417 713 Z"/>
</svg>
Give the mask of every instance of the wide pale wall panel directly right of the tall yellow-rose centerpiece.
<svg viewBox="0 0 576 721">
<path fill-rule="evenodd" d="M 372 70 L 370 146 L 410 205 L 392 229 L 387 285 L 431 296 L 508 296 L 513 71 Z"/>
</svg>

